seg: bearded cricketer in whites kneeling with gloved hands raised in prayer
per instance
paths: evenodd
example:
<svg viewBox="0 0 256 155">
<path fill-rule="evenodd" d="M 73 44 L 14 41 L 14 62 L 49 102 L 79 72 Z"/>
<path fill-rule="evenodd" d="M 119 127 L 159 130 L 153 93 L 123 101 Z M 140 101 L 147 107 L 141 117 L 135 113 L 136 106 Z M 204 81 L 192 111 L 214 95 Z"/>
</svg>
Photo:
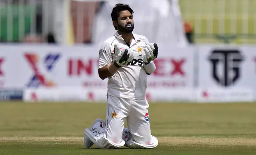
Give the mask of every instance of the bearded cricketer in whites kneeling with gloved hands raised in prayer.
<svg viewBox="0 0 256 155">
<path fill-rule="evenodd" d="M 108 78 L 106 119 L 96 119 L 84 131 L 84 144 L 101 149 L 126 146 L 154 148 L 158 140 L 151 135 L 149 104 L 145 98 L 147 76 L 156 67 L 156 43 L 133 33 L 133 10 L 116 4 L 111 13 L 116 34 L 105 40 L 99 50 L 98 72 Z M 124 127 L 125 119 L 128 128 Z"/>
</svg>

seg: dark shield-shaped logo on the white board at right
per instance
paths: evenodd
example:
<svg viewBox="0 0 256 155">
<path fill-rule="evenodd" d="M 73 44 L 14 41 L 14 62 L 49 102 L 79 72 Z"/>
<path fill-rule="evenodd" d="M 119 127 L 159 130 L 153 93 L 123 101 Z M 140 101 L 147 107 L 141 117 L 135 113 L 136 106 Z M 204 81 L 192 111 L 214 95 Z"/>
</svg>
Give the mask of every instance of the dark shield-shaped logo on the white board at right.
<svg viewBox="0 0 256 155">
<path fill-rule="evenodd" d="M 225 87 L 233 85 L 240 77 L 242 55 L 237 50 L 214 50 L 209 60 L 212 64 L 212 76 L 218 84 Z M 222 66 L 222 73 L 220 67 Z M 221 76 L 223 75 L 223 76 Z"/>
</svg>

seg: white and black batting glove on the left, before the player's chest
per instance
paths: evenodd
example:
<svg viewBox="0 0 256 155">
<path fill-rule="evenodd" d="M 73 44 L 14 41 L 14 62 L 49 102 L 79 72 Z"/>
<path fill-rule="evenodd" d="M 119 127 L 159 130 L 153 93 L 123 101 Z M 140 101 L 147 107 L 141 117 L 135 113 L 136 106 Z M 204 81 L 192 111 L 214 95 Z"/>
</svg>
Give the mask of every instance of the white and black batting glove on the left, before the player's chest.
<svg viewBox="0 0 256 155">
<path fill-rule="evenodd" d="M 122 49 L 122 51 L 120 51 L 119 46 L 114 45 L 114 54 L 118 56 L 115 62 L 119 66 L 127 66 L 128 63 L 132 62 L 134 59 L 133 53 L 134 51 L 131 49 Z"/>
</svg>

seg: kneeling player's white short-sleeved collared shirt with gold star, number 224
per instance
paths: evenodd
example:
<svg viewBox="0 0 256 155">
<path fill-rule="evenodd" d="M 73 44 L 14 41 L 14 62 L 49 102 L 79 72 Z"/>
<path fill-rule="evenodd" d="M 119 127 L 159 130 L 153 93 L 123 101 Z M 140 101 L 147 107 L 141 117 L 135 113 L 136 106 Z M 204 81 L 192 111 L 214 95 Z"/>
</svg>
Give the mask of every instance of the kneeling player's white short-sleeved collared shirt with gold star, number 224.
<svg viewBox="0 0 256 155">
<path fill-rule="evenodd" d="M 108 81 L 108 95 L 131 98 L 145 99 L 147 89 L 147 74 L 143 68 L 145 45 L 149 42 L 145 36 L 134 34 L 134 39 L 130 47 L 126 44 L 121 35 L 116 32 L 101 46 L 99 50 L 99 66 L 112 64 L 117 59 L 114 54 L 114 45 L 118 44 L 120 49 L 132 49 L 134 51 L 134 60 L 128 65 L 120 67 Z"/>
</svg>

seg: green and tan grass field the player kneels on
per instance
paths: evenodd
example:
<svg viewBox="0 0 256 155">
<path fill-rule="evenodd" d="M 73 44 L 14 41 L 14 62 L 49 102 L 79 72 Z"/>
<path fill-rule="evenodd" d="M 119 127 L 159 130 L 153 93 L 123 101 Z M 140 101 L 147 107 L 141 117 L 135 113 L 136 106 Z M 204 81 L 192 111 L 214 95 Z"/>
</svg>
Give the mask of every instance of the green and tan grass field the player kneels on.
<svg viewBox="0 0 256 155">
<path fill-rule="evenodd" d="M 1 155 L 255 155 L 255 103 L 151 103 L 154 149 L 85 148 L 83 130 L 105 104 L 0 103 Z"/>
</svg>

